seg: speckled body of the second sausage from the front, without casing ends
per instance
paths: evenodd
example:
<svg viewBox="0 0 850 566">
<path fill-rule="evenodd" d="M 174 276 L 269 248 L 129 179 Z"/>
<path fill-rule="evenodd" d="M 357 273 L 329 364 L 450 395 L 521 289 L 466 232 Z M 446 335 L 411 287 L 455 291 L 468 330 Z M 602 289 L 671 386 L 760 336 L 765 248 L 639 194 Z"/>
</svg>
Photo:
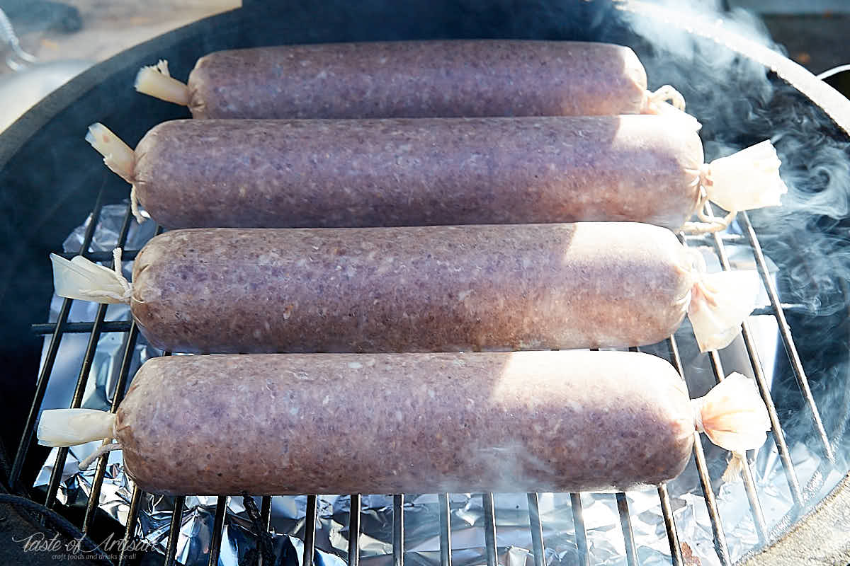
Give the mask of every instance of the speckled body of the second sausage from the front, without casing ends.
<svg viewBox="0 0 850 566">
<path fill-rule="evenodd" d="M 219 228 L 151 239 L 130 304 L 173 351 L 567 349 L 665 339 L 693 285 L 647 224 Z"/>
</svg>

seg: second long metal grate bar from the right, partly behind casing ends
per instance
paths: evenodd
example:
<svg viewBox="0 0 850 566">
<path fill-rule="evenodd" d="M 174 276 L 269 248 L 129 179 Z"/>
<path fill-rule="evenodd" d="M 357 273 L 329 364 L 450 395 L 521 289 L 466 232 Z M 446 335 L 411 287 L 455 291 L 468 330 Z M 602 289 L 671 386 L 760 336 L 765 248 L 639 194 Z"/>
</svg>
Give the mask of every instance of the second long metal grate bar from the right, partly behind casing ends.
<svg viewBox="0 0 850 566">
<path fill-rule="evenodd" d="M 712 210 L 711 205 L 706 203 L 706 214 L 708 216 L 715 216 L 714 210 Z M 720 261 L 720 266 L 723 267 L 723 271 L 728 272 L 732 271 L 732 266 L 729 264 L 728 255 L 726 255 L 726 248 L 723 246 L 723 240 L 717 233 L 713 234 L 714 236 L 714 249 L 717 252 L 717 259 Z M 789 310 L 791 305 L 780 305 L 782 311 Z M 795 305 L 796 306 L 796 305 Z M 802 305 L 799 305 L 802 306 Z M 805 307 L 804 307 L 805 308 Z M 776 314 L 776 309 L 774 309 L 773 305 L 771 305 L 771 312 L 769 314 Z M 808 311 L 808 309 L 806 309 Z M 752 316 L 752 315 L 751 315 Z M 802 507 L 802 490 L 800 489 L 800 482 L 796 477 L 796 471 L 794 469 L 794 463 L 791 461 L 791 452 L 788 450 L 788 444 L 785 442 L 785 433 L 782 431 L 782 425 L 779 423 L 779 415 L 776 412 L 776 406 L 774 405 L 774 400 L 770 396 L 770 388 L 768 387 L 768 380 L 764 374 L 764 367 L 762 366 L 762 360 L 758 356 L 758 350 L 756 348 L 756 343 L 752 339 L 750 333 L 750 323 L 744 321 L 741 324 L 741 338 L 744 340 L 744 346 L 747 351 L 747 355 L 750 356 L 750 365 L 752 367 L 753 376 L 756 379 L 756 384 L 758 386 L 758 392 L 762 395 L 762 401 L 764 401 L 765 407 L 768 409 L 768 417 L 770 419 L 770 428 L 774 433 L 774 441 L 776 443 L 776 449 L 779 452 L 779 459 L 782 462 L 782 467 L 785 471 L 785 480 L 788 482 L 788 489 L 791 491 L 791 499 L 794 500 L 796 507 Z"/>
</svg>

